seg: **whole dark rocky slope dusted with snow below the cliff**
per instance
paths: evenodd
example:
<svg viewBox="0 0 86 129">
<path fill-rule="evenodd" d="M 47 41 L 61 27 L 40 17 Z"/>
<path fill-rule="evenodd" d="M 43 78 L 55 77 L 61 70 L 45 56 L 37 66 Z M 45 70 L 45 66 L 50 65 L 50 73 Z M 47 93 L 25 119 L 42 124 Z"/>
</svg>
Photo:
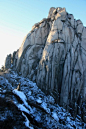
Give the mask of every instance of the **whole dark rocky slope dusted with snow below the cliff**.
<svg viewBox="0 0 86 129">
<path fill-rule="evenodd" d="M 8 128 L 85 129 L 86 123 L 78 115 L 74 119 L 36 83 L 10 70 L 0 74 L 0 129 Z"/>
</svg>

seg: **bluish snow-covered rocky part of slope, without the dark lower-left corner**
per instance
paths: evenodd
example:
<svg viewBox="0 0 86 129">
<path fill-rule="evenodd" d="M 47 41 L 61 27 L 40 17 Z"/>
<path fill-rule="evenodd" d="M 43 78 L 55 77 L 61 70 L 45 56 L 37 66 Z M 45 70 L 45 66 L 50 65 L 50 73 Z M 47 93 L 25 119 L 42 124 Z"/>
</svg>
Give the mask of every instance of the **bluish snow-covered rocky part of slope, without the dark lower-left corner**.
<svg viewBox="0 0 86 129">
<path fill-rule="evenodd" d="M 24 114 L 24 112 L 31 115 L 32 118 L 34 118 L 37 122 L 41 123 L 44 127 L 49 128 L 69 128 L 69 129 L 85 129 L 86 124 L 84 122 L 81 122 L 80 119 L 74 120 L 74 118 L 70 115 L 70 113 L 66 112 L 66 110 L 62 107 L 60 107 L 58 104 L 55 104 L 55 100 L 52 96 L 48 95 L 46 96 L 36 85 L 36 83 L 33 83 L 28 78 L 24 78 L 22 76 L 18 76 L 14 71 L 11 71 L 11 74 L 9 73 L 10 80 L 8 81 L 6 78 L 0 76 L 0 85 L 3 85 L 6 90 L 6 86 L 10 84 L 10 87 L 13 94 L 18 96 L 20 100 L 22 100 L 22 104 L 18 101 L 16 102 L 16 99 L 14 99 L 15 105 L 18 107 L 19 110 L 21 110 L 22 115 L 25 117 L 26 127 L 29 127 L 30 129 L 33 129 L 33 127 L 30 127 L 29 119 Z M 5 82 L 5 84 L 4 84 Z M 15 85 L 14 83 L 15 82 Z M 15 88 L 17 85 L 21 83 L 20 89 L 21 91 L 16 90 Z M 0 87 L 0 91 L 1 91 Z M 6 92 L 6 91 L 5 91 Z M 35 104 L 35 106 L 30 106 L 28 101 Z M 38 108 L 37 105 L 40 107 Z M 44 110 L 42 110 L 44 109 Z M 44 112 L 46 111 L 46 113 Z"/>
</svg>

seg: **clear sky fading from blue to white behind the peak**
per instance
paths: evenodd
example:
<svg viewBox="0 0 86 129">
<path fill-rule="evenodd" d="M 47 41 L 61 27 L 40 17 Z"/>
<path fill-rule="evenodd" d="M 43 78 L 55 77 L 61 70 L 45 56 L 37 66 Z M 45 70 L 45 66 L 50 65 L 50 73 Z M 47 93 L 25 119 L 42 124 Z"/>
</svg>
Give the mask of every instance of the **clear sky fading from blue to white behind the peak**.
<svg viewBox="0 0 86 129">
<path fill-rule="evenodd" d="M 48 16 L 50 7 L 65 7 L 86 26 L 86 0 L 0 0 L 0 67 L 32 26 Z"/>
</svg>

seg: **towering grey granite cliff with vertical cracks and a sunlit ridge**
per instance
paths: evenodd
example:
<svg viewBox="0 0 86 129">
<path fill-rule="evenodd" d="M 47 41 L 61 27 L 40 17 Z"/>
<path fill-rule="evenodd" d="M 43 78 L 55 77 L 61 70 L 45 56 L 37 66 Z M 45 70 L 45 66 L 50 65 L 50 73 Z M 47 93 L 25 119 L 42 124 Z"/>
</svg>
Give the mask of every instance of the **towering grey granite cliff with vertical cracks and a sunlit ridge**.
<svg viewBox="0 0 86 129">
<path fill-rule="evenodd" d="M 48 18 L 32 27 L 12 60 L 22 76 L 80 114 L 86 101 L 86 27 L 65 8 L 50 8 Z"/>
</svg>

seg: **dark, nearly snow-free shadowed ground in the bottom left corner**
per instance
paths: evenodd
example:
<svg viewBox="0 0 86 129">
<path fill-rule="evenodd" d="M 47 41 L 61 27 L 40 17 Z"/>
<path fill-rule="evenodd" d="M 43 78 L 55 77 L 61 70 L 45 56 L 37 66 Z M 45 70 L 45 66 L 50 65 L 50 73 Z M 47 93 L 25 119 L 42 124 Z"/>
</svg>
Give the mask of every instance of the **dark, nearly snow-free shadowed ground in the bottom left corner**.
<svg viewBox="0 0 86 129">
<path fill-rule="evenodd" d="M 24 117 L 10 99 L 0 96 L 0 128 L 1 129 L 25 129 Z"/>
</svg>

